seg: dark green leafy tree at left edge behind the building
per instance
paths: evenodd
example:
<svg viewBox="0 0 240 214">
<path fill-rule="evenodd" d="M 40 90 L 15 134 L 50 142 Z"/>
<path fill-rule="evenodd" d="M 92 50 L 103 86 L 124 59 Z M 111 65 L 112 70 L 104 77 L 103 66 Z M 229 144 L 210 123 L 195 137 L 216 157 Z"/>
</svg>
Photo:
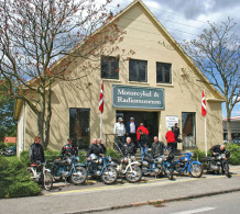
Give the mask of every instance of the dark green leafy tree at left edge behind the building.
<svg viewBox="0 0 240 214">
<path fill-rule="evenodd" d="M 0 79 L 0 82 L 2 80 Z M 0 142 L 6 136 L 17 135 L 17 123 L 13 120 L 14 99 L 7 95 L 0 83 Z"/>
</svg>

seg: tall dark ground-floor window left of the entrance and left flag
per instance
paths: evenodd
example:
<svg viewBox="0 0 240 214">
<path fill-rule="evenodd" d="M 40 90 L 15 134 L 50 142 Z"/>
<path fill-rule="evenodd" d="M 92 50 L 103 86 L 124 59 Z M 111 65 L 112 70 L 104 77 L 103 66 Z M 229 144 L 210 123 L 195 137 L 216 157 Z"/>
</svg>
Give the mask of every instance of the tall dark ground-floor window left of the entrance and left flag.
<svg viewBox="0 0 240 214">
<path fill-rule="evenodd" d="M 79 149 L 89 146 L 89 109 L 70 109 L 69 137 Z"/>
</svg>

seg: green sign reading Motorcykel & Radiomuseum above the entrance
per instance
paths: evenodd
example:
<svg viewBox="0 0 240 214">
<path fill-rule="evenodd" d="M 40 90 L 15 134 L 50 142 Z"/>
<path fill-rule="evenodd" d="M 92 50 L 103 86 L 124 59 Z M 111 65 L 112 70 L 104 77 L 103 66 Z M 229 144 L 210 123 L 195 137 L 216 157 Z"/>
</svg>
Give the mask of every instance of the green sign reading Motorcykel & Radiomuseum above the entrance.
<svg viewBox="0 0 240 214">
<path fill-rule="evenodd" d="M 164 89 L 113 85 L 112 106 L 163 110 Z"/>
</svg>

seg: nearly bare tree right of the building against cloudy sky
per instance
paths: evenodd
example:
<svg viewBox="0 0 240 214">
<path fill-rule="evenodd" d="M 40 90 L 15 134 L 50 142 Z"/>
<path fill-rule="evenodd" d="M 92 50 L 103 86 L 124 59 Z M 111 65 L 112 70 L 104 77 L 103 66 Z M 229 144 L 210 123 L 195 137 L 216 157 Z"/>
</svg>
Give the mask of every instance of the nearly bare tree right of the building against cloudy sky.
<svg viewBox="0 0 240 214">
<path fill-rule="evenodd" d="M 219 25 L 208 24 L 209 29 L 205 29 L 196 40 L 185 41 L 183 47 L 225 97 L 228 142 L 231 142 L 231 112 L 240 102 L 239 37 L 232 32 L 236 23 L 230 18 Z"/>
</svg>

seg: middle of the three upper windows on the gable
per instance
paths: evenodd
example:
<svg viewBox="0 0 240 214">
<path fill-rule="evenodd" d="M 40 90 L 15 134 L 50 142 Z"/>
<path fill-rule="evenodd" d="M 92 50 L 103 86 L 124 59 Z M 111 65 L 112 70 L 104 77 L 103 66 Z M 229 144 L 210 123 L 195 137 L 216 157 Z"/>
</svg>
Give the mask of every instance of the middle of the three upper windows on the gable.
<svg viewBox="0 0 240 214">
<path fill-rule="evenodd" d="M 148 61 L 130 59 L 129 81 L 148 81 Z"/>
</svg>

